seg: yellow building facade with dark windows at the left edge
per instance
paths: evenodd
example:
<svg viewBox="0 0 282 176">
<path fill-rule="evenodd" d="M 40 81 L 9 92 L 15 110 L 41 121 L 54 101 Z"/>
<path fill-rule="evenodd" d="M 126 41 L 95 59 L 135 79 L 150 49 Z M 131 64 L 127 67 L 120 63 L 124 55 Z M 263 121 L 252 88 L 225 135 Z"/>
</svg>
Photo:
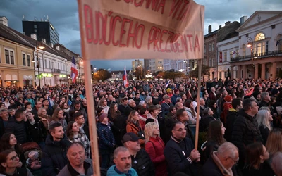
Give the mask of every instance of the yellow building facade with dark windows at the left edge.
<svg viewBox="0 0 282 176">
<path fill-rule="evenodd" d="M 30 86 L 35 80 L 34 49 L 13 37 L 0 36 L 0 87 Z"/>
</svg>

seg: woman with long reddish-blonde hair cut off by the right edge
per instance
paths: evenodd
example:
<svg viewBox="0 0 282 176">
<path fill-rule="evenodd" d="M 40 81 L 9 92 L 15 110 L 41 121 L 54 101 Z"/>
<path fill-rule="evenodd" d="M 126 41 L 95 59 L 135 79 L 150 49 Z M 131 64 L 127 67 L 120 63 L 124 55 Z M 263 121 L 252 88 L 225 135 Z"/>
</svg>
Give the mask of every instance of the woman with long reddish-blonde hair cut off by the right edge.
<svg viewBox="0 0 282 176">
<path fill-rule="evenodd" d="M 269 132 L 266 142 L 266 149 L 269 151 L 269 164 L 276 176 L 282 176 L 282 130 L 274 129 Z"/>
</svg>

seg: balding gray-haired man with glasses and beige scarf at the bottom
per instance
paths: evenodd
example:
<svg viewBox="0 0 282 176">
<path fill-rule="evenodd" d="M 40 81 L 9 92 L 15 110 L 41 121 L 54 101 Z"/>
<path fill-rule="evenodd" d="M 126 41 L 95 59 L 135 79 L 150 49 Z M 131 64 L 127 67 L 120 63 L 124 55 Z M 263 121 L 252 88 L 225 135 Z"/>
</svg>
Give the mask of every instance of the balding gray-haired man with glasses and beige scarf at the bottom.
<svg viewBox="0 0 282 176">
<path fill-rule="evenodd" d="M 235 164 L 239 160 L 238 149 L 231 142 L 225 142 L 202 167 L 202 176 L 237 175 Z"/>
</svg>

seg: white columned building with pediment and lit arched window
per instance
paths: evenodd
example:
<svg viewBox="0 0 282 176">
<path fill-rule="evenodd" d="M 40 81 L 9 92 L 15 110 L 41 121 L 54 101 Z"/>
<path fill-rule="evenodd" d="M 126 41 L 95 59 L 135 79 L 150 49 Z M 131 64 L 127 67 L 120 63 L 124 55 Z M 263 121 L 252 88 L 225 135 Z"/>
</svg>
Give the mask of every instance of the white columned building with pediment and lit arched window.
<svg viewBox="0 0 282 176">
<path fill-rule="evenodd" d="M 278 77 L 282 68 L 282 11 L 255 11 L 236 31 L 239 54 L 231 58 L 231 78 Z"/>
</svg>

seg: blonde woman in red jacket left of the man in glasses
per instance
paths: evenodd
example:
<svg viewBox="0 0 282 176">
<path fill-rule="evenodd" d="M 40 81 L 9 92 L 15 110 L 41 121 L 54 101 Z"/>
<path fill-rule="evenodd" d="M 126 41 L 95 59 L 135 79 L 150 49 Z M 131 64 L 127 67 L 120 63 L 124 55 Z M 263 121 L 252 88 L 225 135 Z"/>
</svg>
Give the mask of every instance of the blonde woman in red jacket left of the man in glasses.
<svg viewBox="0 0 282 176">
<path fill-rule="evenodd" d="M 166 158 L 164 157 L 164 141 L 159 137 L 159 127 L 155 122 L 148 122 L 145 125 L 146 144 L 145 150 L 149 154 L 156 176 L 166 176 Z"/>
</svg>

